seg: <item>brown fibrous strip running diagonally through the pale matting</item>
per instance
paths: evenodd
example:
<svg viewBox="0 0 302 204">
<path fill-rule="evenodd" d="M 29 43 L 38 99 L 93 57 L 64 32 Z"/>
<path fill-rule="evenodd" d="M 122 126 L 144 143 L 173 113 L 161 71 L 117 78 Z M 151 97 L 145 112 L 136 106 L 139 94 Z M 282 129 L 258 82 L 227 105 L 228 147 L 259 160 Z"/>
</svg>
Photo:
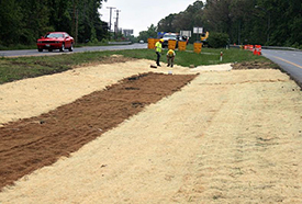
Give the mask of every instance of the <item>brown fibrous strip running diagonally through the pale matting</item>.
<svg viewBox="0 0 302 204">
<path fill-rule="evenodd" d="M 133 76 L 38 117 L 0 127 L 0 188 L 78 150 L 194 77 Z"/>
</svg>

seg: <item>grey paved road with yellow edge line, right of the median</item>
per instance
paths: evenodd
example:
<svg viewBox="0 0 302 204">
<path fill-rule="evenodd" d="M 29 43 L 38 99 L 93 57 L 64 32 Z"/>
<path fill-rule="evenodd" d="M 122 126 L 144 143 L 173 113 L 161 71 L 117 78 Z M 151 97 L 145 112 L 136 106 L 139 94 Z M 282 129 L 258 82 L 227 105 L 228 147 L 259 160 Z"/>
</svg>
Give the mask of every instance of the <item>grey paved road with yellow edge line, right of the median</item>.
<svg viewBox="0 0 302 204">
<path fill-rule="evenodd" d="M 302 52 L 262 49 L 262 55 L 278 64 L 302 84 Z"/>
</svg>

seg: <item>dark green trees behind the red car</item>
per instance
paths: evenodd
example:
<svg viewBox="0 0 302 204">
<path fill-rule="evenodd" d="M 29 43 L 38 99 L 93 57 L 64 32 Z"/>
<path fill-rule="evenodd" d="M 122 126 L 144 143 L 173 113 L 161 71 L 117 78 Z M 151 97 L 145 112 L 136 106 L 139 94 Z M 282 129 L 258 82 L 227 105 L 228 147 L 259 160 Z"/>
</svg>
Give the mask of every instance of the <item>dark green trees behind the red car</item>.
<svg viewBox="0 0 302 204">
<path fill-rule="evenodd" d="M 31 45 L 51 31 L 67 32 L 79 43 L 108 38 L 108 23 L 98 12 L 102 1 L 0 0 L 0 45 Z"/>
</svg>

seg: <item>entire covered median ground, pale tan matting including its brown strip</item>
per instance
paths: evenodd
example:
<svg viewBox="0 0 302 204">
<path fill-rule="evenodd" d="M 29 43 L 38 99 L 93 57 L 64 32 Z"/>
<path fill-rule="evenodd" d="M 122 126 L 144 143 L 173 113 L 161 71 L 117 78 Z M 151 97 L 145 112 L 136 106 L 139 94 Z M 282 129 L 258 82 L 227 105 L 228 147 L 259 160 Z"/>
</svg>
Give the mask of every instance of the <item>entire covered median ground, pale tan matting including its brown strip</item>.
<svg viewBox="0 0 302 204">
<path fill-rule="evenodd" d="M 289 76 L 152 64 L 0 86 L 0 203 L 302 203 Z"/>
</svg>

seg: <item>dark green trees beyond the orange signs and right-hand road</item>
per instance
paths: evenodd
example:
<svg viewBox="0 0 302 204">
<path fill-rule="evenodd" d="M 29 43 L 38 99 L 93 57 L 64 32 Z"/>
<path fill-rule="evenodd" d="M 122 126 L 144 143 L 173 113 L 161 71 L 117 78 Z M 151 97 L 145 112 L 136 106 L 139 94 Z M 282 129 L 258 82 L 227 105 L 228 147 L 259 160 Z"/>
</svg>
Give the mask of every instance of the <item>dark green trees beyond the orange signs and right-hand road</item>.
<svg viewBox="0 0 302 204">
<path fill-rule="evenodd" d="M 183 12 L 169 14 L 157 26 L 157 32 L 204 31 L 227 34 L 232 44 L 260 44 L 302 48 L 301 0 L 206 0 L 195 1 Z M 142 32 L 142 37 L 146 35 Z M 192 34 L 193 35 L 193 34 Z M 141 36 L 141 35 L 139 35 Z M 194 36 L 192 36 L 194 41 Z"/>
</svg>

